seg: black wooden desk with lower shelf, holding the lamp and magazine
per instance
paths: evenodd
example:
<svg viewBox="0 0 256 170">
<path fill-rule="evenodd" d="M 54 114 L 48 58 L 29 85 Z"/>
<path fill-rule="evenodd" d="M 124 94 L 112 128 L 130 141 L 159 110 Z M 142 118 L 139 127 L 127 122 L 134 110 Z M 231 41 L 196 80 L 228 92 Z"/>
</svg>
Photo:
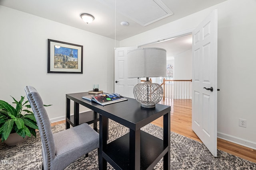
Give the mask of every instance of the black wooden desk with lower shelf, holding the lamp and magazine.
<svg viewBox="0 0 256 170">
<path fill-rule="evenodd" d="M 106 170 L 109 162 L 116 170 L 152 170 L 163 157 L 164 170 L 170 170 L 170 106 L 156 104 L 155 108 L 140 107 L 132 98 L 101 106 L 82 99 L 88 93 L 66 94 L 67 100 L 100 114 L 99 169 Z M 70 104 L 67 105 L 70 110 Z M 140 130 L 164 116 L 163 140 Z M 128 127 L 130 133 L 107 144 L 108 118 Z"/>
</svg>

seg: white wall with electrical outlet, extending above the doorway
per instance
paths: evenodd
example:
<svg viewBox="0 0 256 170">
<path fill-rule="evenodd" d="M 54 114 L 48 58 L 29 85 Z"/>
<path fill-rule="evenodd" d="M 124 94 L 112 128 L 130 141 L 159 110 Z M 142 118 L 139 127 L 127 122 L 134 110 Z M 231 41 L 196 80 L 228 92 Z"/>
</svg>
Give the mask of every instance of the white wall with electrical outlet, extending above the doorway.
<svg viewBox="0 0 256 170">
<path fill-rule="evenodd" d="M 120 47 L 192 29 L 214 8 L 218 8 L 218 137 L 256 149 L 255 0 L 227 0 L 120 41 Z M 239 118 L 247 120 L 246 128 L 238 126 Z"/>
</svg>

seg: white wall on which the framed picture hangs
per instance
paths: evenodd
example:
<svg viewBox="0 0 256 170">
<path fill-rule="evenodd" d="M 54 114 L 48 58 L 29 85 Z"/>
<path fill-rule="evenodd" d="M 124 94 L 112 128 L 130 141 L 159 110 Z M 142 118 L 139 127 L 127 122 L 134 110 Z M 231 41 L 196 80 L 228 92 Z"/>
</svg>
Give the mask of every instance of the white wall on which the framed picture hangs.
<svg viewBox="0 0 256 170">
<path fill-rule="evenodd" d="M 25 96 L 24 87 L 41 94 L 51 121 L 65 118 L 65 94 L 114 92 L 114 40 L 68 25 L 0 6 L 0 100 Z M 90 26 L 90 25 L 84 25 Z M 47 73 L 47 39 L 83 45 L 83 74 Z"/>
</svg>

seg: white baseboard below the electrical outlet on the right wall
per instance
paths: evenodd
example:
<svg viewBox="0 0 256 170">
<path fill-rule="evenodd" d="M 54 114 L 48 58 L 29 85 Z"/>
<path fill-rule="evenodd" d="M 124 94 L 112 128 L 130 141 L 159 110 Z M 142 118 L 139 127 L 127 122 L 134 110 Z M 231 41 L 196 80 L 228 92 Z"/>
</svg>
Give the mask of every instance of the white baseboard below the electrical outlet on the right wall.
<svg viewBox="0 0 256 170">
<path fill-rule="evenodd" d="M 248 148 L 256 150 L 256 143 L 254 143 L 252 141 L 247 141 L 245 139 L 241 139 L 241 138 L 234 137 L 232 135 L 228 135 L 228 134 L 220 133 L 220 132 L 217 133 L 217 137 L 220 139 L 223 139 L 225 141 L 236 143 L 238 145 L 242 145 L 244 147 L 248 147 Z"/>
</svg>

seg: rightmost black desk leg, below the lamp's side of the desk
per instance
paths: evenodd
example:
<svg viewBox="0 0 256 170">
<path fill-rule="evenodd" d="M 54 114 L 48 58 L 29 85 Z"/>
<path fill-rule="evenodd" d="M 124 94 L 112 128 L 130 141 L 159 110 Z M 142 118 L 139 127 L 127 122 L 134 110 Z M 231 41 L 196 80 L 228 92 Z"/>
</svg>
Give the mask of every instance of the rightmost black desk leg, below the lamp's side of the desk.
<svg viewBox="0 0 256 170">
<path fill-rule="evenodd" d="M 164 155 L 164 170 L 170 170 L 170 112 L 164 115 L 164 145 L 168 145 L 168 152 Z"/>
</svg>

